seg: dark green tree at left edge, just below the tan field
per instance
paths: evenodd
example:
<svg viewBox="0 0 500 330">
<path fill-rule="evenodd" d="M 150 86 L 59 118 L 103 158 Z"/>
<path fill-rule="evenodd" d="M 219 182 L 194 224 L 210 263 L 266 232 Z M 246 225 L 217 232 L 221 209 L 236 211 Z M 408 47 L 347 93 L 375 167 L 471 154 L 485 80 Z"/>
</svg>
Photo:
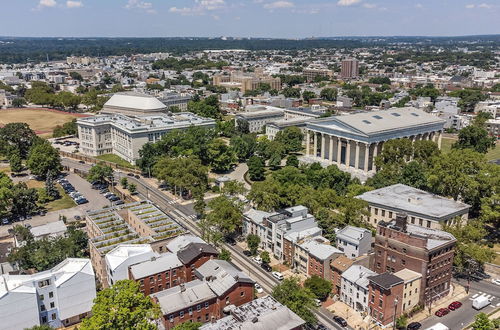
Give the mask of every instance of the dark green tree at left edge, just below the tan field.
<svg viewBox="0 0 500 330">
<path fill-rule="evenodd" d="M 37 139 L 26 123 L 8 123 L 0 128 L 0 154 L 8 156 L 11 148 L 19 151 L 19 156 L 26 159 L 28 151 Z M 2 143 L 3 142 L 3 143 Z"/>
</svg>

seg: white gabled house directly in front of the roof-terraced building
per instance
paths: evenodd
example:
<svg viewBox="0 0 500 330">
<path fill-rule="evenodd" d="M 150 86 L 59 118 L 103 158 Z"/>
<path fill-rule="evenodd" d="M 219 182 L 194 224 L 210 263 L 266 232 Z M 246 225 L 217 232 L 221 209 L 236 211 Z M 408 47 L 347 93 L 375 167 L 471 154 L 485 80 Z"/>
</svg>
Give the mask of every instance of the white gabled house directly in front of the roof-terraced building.
<svg viewBox="0 0 500 330">
<path fill-rule="evenodd" d="M 158 255 L 149 244 L 118 245 L 105 256 L 108 285 L 112 286 L 116 281 L 128 280 L 129 266 L 151 260 Z"/>
</svg>

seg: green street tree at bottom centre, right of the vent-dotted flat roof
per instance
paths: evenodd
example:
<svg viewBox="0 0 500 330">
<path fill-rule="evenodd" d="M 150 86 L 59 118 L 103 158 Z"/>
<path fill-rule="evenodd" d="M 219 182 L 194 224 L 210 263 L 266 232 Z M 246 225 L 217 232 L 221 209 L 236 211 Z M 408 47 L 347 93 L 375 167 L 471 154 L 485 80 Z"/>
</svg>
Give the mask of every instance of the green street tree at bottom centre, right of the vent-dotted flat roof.
<svg viewBox="0 0 500 330">
<path fill-rule="evenodd" d="M 316 309 L 316 296 L 308 288 L 303 288 L 296 277 L 286 278 L 279 285 L 275 286 L 272 296 L 290 308 L 295 314 L 301 317 L 307 324 L 317 323 L 314 310 Z"/>
</svg>

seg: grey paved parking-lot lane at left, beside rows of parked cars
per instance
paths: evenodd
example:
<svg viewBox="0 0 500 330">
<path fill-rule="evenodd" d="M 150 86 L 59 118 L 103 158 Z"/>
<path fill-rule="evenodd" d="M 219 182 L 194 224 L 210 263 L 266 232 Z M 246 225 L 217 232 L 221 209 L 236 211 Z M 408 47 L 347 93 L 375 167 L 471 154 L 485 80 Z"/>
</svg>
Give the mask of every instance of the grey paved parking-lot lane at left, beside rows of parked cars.
<svg viewBox="0 0 500 330">
<path fill-rule="evenodd" d="M 98 210 L 106 205 L 110 205 L 110 202 L 104 196 L 99 194 L 98 191 L 92 189 L 90 183 L 77 174 L 69 173 L 66 176 L 66 179 L 75 187 L 76 190 L 82 193 L 89 202 L 87 204 L 77 205 L 69 209 L 48 212 L 45 216 L 34 216 L 32 219 L 24 221 L 25 224 L 29 223 L 32 227 L 35 227 L 58 221 L 59 216 L 65 216 L 67 219 L 73 219 L 75 215 L 83 217 L 87 210 Z M 0 237 L 7 236 L 10 228 L 12 228 L 12 225 L 0 226 Z"/>
</svg>

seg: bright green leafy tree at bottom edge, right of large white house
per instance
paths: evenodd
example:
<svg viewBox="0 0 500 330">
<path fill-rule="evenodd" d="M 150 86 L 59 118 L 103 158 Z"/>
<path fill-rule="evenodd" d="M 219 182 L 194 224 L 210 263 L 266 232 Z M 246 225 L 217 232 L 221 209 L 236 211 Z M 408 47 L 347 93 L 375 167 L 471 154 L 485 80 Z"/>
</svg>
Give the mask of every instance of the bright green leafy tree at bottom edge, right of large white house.
<svg viewBox="0 0 500 330">
<path fill-rule="evenodd" d="M 80 329 L 156 329 L 154 320 L 160 308 L 150 297 L 139 291 L 131 280 L 117 281 L 112 287 L 97 293 L 92 316 L 83 320 Z"/>
</svg>

